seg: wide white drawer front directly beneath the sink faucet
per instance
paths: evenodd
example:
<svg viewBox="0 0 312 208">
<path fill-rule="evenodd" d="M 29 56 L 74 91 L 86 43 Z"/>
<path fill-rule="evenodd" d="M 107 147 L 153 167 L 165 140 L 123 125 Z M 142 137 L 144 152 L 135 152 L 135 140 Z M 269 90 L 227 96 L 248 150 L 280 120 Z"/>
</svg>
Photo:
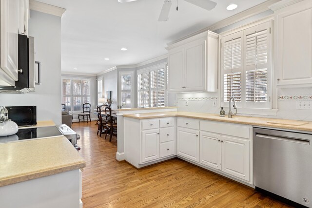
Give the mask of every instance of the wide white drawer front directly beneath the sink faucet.
<svg viewBox="0 0 312 208">
<path fill-rule="evenodd" d="M 200 121 L 200 130 L 215 132 L 249 139 L 250 127 L 239 124 L 227 124 L 214 121 Z"/>
</svg>

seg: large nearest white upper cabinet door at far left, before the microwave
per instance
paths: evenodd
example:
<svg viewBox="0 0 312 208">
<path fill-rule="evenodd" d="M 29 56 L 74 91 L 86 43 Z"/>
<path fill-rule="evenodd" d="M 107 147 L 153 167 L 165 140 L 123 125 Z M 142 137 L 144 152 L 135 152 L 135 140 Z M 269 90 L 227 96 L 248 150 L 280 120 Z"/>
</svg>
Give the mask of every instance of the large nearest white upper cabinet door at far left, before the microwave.
<svg viewBox="0 0 312 208">
<path fill-rule="evenodd" d="M 18 80 L 19 0 L 0 1 L 0 70 Z"/>
</svg>

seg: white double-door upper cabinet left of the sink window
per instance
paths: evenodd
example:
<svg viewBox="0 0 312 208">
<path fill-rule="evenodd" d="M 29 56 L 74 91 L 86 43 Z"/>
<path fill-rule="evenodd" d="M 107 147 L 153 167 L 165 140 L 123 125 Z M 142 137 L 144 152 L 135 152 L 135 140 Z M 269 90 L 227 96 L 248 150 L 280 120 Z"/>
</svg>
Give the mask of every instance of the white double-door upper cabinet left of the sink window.
<svg viewBox="0 0 312 208">
<path fill-rule="evenodd" d="M 166 48 L 169 92 L 217 90 L 218 37 L 208 31 Z"/>
</svg>

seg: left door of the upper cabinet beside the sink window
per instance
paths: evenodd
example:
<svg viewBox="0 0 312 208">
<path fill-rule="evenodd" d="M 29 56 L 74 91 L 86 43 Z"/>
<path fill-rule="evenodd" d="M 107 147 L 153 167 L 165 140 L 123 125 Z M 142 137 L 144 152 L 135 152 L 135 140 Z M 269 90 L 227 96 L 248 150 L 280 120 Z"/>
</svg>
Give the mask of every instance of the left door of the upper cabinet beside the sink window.
<svg viewBox="0 0 312 208">
<path fill-rule="evenodd" d="M 168 54 L 168 91 L 179 92 L 184 90 L 184 51 L 174 50 Z"/>
</svg>

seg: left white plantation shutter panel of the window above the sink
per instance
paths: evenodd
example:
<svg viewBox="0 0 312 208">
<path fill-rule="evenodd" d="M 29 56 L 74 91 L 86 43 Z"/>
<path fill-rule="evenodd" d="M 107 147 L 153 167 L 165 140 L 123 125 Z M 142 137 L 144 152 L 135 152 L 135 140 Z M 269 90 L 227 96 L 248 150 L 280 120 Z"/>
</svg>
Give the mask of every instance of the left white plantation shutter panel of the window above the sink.
<svg viewBox="0 0 312 208">
<path fill-rule="evenodd" d="M 243 32 L 237 32 L 222 38 L 222 72 L 224 76 L 224 102 L 234 96 L 237 102 L 242 99 L 243 72 Z"/>
</svg>

